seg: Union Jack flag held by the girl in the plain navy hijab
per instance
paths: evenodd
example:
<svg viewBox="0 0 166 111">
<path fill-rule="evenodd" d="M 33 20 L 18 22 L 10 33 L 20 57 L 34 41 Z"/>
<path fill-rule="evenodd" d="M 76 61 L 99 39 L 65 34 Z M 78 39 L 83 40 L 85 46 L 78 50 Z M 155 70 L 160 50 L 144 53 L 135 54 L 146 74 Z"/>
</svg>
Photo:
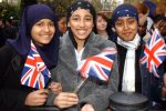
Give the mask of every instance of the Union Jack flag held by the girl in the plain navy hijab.
<svg viewBox="0 0 166 111">
<path fill-rule="evenodd" d="M 21 75 L 21 84 L 35 89 L 43 89 L 50 78 L 50 71 L 31 41 L 31 50 Z"/>
</svg>

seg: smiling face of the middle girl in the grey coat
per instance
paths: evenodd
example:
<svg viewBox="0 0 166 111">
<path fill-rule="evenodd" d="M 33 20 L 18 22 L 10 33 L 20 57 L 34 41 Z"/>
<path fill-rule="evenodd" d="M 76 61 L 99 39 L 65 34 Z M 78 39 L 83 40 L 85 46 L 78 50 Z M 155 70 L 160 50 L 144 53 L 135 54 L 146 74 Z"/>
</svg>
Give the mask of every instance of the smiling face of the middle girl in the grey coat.
<svg viewBox="0 0 166 111">
<path fill-rule="evenodd" d="M 77 43 L 80 41 L 84 42 L 94 27 L 93 17 L 89 10 L 77 9 L 72 13 L 69 26 L 73 32 L 75 41 Z"/>
</svg>

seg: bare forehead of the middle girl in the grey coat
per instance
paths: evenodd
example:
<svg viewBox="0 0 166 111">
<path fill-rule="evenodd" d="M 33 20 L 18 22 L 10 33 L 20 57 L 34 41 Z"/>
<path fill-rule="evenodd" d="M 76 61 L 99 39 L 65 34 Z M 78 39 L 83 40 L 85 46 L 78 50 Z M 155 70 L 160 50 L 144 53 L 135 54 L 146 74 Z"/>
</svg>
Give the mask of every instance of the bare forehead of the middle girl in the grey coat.
<svg viewBox="0 0 166 111">
<path fill-rule="evenodd" d="M 90 13 L 90 10 L 87 9 L 77 9 L 72 13 L 72 16 L 79 16 L 79 17 L 91 16 L 92 17 L 92 14 Z"/>
</svg>

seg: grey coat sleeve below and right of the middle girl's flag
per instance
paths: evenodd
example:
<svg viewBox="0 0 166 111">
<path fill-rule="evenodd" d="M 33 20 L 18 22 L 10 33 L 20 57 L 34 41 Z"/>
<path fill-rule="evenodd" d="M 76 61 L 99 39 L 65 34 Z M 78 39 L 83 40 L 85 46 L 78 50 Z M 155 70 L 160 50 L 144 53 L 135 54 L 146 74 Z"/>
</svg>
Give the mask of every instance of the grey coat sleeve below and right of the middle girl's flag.
<svg viewBox="0 0 166 111">
<path fill-rule="evenodd" d="M 98 85 L 96 90 L 89 94 L 86 98 L 82 99 L 79 104 L 79 111 L 81 107 L 85 103 L 93 105 L 95 111 L 106 111 L 110 105 L 110 95 L 117 91 L 118 87 L 118 69 L 117 69 L 117 54 L 115 54 L 115 60 L 113 69 L 111 71 L 111 77 L 108 84 Z"/>
</svg>

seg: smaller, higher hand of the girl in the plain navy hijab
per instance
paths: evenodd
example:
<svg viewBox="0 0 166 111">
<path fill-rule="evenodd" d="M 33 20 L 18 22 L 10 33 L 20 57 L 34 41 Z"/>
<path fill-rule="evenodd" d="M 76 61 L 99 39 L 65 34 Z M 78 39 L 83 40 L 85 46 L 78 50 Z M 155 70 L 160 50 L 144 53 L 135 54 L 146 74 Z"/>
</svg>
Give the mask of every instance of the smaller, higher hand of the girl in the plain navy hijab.
<svg viewBox="0 0 166 111">
<path fill-rule="evenodd" d="M 54 93 L 58 94 L 60 92 L 62 92 L 62 85 L 59 82 L 51 82 L 51 84 L 49 85 L 49 89 Z"/>
</svg>

